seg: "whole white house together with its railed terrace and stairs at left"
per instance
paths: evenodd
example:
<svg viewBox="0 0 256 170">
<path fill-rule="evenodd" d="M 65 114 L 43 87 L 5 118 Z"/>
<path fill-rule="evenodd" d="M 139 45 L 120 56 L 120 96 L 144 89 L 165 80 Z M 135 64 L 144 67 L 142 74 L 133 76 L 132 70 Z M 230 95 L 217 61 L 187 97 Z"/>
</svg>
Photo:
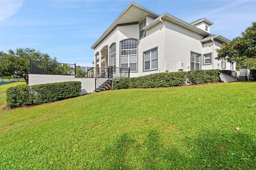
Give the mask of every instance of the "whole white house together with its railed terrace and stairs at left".
<svg viewBox="0 0 256 170">
<path fill-rule="evenodd" d="M 212 24 L 206 18 L 189 24 L 130 3 L 92 45 L 94 67 L 54 63 L 61 65 L 54 67 L 61 71 L 50 73 L 52 63 L 46 67 L 44 62 L 30 61 L 29 85 L 81 81 L 81 94 L 86 94 L 106 89 L 113 80 L 124 77 L 195 69 L 234 70 L 235 64 L 214 59 L 215 49 L 230 40 L 210 34 Z M 67 65 L 69 71 L 64 73 Z"/>
</svg>

